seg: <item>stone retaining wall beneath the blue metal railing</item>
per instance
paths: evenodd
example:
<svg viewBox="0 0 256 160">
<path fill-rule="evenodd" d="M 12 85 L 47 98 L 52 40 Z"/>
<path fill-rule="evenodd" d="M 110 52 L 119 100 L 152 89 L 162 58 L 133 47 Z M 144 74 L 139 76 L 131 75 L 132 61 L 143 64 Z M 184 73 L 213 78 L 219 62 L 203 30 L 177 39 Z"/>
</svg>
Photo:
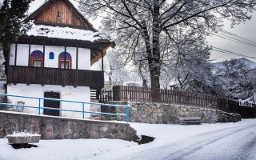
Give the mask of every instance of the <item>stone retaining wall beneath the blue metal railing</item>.
<svg viewBox="0 0 256 160">
<path fill-rule="evenodd" d="M 137 140 L 136 131 L 128 123 L 97 122 L 0 111 L 0 138 L 21 130 L 41 134 L 42 139 L 111 138 L 127 141 Z"/>
</svg>

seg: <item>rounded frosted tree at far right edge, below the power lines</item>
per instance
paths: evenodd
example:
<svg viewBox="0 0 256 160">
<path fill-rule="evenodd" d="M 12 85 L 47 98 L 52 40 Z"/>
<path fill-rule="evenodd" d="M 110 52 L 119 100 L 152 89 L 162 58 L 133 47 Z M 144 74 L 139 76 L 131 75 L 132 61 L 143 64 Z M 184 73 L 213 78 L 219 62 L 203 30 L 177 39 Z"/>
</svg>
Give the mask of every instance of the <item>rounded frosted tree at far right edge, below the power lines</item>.
<svg viewBox="0 0 256 160">
<path fill-rule="evenodd" d="M 215 76 L 218 80 L 215 85 L 221 86 L 218 91 L 222 92 L 223 96 L 246 99 L 256 90 L 256 70 L 239 59 L 223 62 Z"/>
</svg>

